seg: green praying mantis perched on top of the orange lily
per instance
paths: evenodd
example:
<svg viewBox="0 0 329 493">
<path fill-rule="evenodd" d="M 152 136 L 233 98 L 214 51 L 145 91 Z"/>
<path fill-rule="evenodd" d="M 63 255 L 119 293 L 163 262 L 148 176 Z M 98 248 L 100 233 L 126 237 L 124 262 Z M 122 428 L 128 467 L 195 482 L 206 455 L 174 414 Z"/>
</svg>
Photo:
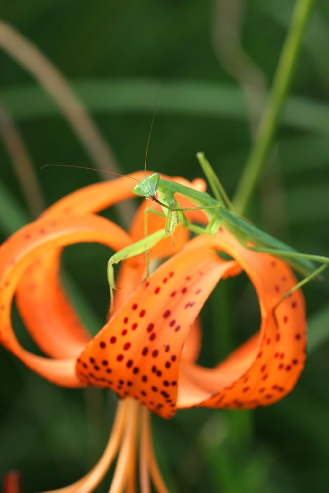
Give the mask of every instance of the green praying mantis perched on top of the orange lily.
<svg viewBox="0 0 329 493">
<path fill-rule="evenodd" d="M 160 204 L 163 212 L 146 208 L 145 238 L 115 253 L 110 258 L 107 272 L 110 285 L 111 308 L 113 306 L 113 289 L 115 288 L 113 265 L 121 262 L 122 260 L 126 260 L 143 253 L 148 255 L 149 250 L 154 245 L 156 245 L 163 238 L 166 238 L 168 235 L 173 234 L 178 223 L 192 232 L 207 235 L 215 235 L 218 232 L 219 227 L 222 227 L 231 233 L 245 248 L 259 253 L 270 253 L 276 257 L 283 258 L 292 266 L 293 269 L 303 274 L 305 278 L 298 282 L 292 289 L 290 289 L 290 291 L 284 294 L 277 305 L 279 305 L 284 298 L 292 294 L 308 281 L 318 276 L 329 265 L 329 258 L 319 255 L 299 253 L 292 247 L 286 245 L 280 240 L 277 240 L 273 236 L 264 233 L 260 229 L 256 228 L 256 226 L 236 214 L 218 177 L 204 154 L 199 152 L 197 154 L 197 158 L 205 176 L 209 181 L 215 198 L 206 192 L 199 192 L 193 190 L 192 188 L 160 178 L 157 173 L 146 176 L 133 188 L 134 194 L 153 200 Z M 179 207 L 179 203 L 176 200 L 177 195 L 189 199 L 195 207 Z M 208 224 L 206 227 L 202 227 L 188 221 L 184 211 L 194 209 L 204 210 L 208 219 Z M 165 217 L 165 228 L 147 235 L 147 213 L 153 213 Z M 250 246 L 250 244 L 254 246 Z M 316 268 L 313 262 L 321 263 L 320 267 Z"/>
</svg>

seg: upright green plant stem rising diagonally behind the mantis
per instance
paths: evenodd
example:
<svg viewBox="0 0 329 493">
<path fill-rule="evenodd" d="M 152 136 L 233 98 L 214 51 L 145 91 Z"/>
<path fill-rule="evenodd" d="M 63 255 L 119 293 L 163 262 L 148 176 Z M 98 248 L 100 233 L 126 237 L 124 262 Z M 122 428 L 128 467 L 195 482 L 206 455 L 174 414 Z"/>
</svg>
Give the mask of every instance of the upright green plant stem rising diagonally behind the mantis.
<svg viewBox="0 0 329 493">
<path fill-rule="evenodd" d="M 262 167 L 270 149 L 286 94 L 300 52 L 301 41 L 314 0 L 297 0 L 292 21 L 274 75 L 268 104 L 262 114 L 256 139 L 240 178 L 233 204 L 240 214 L 246 209 L 254 192 Z"/>
</svg>

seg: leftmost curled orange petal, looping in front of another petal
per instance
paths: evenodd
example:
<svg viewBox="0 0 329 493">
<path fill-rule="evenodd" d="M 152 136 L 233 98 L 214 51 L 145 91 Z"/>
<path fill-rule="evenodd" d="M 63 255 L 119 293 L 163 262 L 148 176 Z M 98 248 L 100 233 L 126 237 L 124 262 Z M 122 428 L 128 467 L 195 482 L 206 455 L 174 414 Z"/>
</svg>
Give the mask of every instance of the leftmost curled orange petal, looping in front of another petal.
<svg viewBox="0 0 329 493">
<path fill-rule="evenodd" d="M 74 216 L 46 217 L 31 223 L 15 233 L 0 248 L 0 340 L 2 344 L 28 367 L 48 380 L 67 387 L 83 385 L 75 374 L 75 359 L 66 359 L 64 346 L 70 346 L 72 356 L 78 355 L 85 342 L 65 337 L 61 333 L 61 321 L 49 317 L 48 306 L 43 305 L 43 292 L 40 286 L 33 286 L 34 302 L 39 303 L 40 318 L 31 317 L 29 330 L 38 344 L 51 352 L 56 348 L 59 354 L 63 350 L 61 360 L 50 360 L 36 356 L 17 341 L 11 327 L 10 312 L 13 295 L 21 277 L 31 262 L 42 258 L 42 254 L 50 247 L 61 249 L 63 246 L 77 242 L 99 242 L 114 250 L 129 245 L 130 237 L 121 228 L 110 221 L 89 214 Z M 55 349 L 54 349 L 55 351 Z"/>
</svg>

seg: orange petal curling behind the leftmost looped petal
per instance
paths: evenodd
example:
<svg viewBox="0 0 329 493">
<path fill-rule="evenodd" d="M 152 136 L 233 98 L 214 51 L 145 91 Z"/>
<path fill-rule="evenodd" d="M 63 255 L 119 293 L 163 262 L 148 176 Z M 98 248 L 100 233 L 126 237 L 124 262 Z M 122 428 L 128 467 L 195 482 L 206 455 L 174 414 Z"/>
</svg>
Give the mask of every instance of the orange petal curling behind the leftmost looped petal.
<svg viewBox="0 0 329 493">
<path fill-rule="evenodd" d="M 139 180 L 144 173 L 131 176 Z M 122 177 L 82 188 L 56 202 L 42 217 L 98 212 L 131 197 L 132 183 L 132 179 Z M 118 249 L 127 245 L 127 242 L 122 243 Z M 25 325 L 42 351 L 54 358 L 71 358 L 81 351 L 81 345 L 85 345 L 90 336 L 59 283 L 61 253 L 62 249 L 53 245 L 31 262 L 18 285 L 16 301 Z M 45 325 L 49 338 L 44 337 Z M 57 343 L 53 344 L 55 337 Z"/>
</svg>

